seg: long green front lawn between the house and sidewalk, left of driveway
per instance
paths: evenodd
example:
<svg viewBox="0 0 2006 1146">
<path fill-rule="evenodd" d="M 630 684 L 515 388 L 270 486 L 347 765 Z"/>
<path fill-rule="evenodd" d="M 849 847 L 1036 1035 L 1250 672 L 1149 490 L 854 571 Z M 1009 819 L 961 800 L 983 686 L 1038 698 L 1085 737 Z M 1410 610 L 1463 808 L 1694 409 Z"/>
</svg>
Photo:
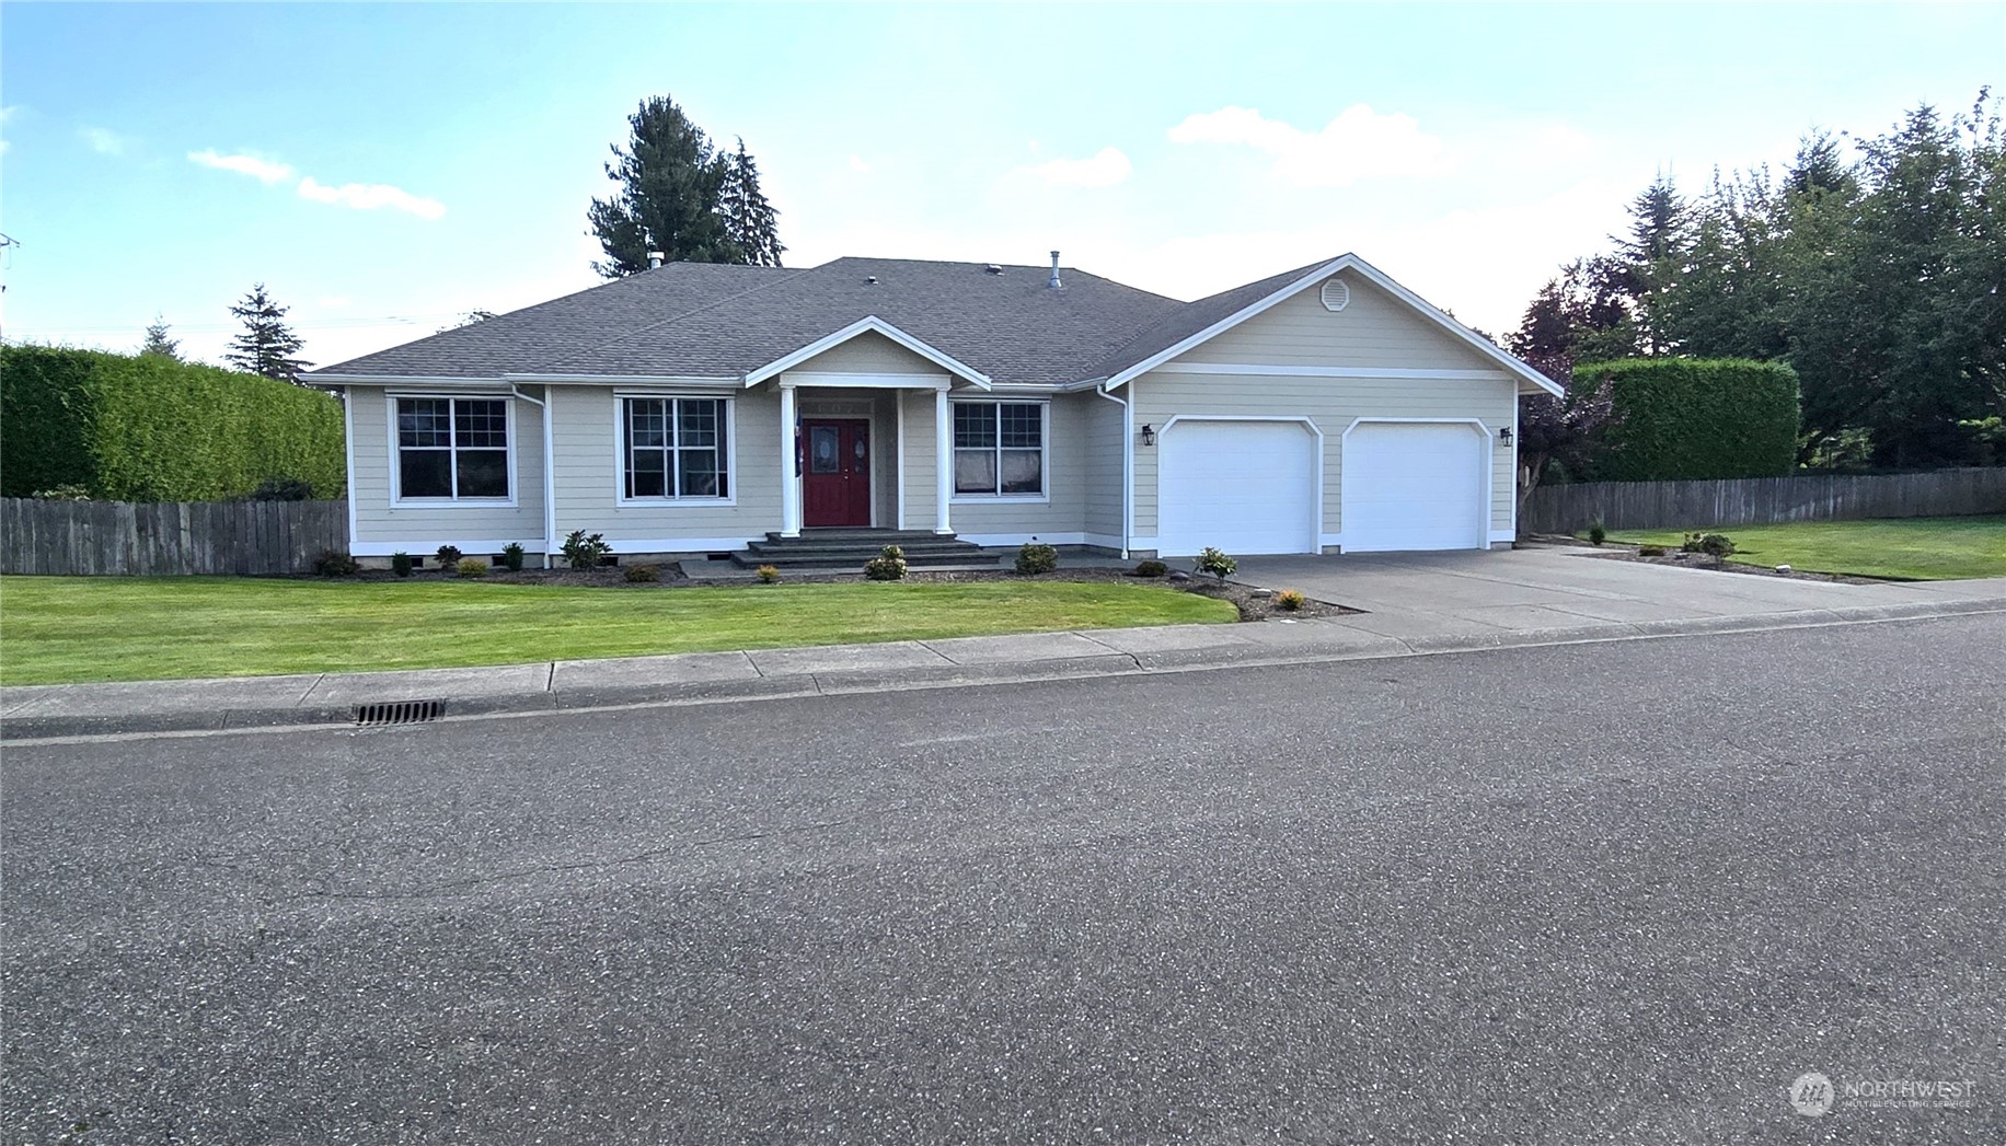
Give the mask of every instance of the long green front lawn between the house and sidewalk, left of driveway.
<svg viewBox="0 0 2006 1146">
<path fill-rule="evenodd" d="M 0 683 L 508 665 L 1236 615 L 1228 601 L 1107 581 L 588 589 L 0 577 Z"/>
</svg>

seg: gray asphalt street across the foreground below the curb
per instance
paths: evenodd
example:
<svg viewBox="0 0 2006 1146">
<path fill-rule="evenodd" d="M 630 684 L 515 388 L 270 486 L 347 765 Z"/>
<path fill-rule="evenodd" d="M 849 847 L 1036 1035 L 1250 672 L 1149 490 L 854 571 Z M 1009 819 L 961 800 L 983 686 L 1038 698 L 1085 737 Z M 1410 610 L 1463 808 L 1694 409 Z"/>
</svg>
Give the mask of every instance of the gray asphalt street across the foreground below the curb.
<svg viewBox="0 0 2006 1146">
<path fill-rule="evenodd" d="M 8 745 L 0 1132 L 2002 1142 L 2002 829 L 2006 615 Z"/>
</svg>

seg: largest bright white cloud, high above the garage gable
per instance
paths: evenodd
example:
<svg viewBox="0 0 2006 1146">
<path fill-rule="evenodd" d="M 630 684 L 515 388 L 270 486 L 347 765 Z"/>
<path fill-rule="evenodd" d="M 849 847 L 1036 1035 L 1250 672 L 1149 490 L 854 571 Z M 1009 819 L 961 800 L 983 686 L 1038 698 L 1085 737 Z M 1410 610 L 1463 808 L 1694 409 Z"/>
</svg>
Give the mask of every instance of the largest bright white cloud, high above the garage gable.
<svg viewBox="0 0 2006 1146">
<path fill-rule="evenodd" d="M 1296 186 L 1348 186 L 1370 176 L 1434 174 L 1448 168 L 1442 140 L 1412 116 L 1344 108 L 1320 132 L 1270 120 L 1254 108 L 1220 108 L 1169 128 L 1176 144 L 1250 146 L 1274 156 L 1274 174 Z"/>
</svg>

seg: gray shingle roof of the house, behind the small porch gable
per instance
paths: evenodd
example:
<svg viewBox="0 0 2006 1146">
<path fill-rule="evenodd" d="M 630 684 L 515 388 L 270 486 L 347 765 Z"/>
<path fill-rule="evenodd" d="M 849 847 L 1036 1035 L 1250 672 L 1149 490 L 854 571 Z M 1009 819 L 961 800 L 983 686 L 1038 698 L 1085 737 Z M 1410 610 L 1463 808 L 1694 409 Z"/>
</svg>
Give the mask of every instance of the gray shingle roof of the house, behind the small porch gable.
<svg viewBox="0 0 2006 1146">
<path fill-rule="evenodd" d="M 837 258 L 804 270 L 672 262 L 317 375 L 738 377 L 877 315 L 995 383 L 1073 383 L 1176 345 L 1314 266 L 1178 303 L 1069 268 L 1053 291 L 1049 266 L 993 274 L 981 262 L 917 258 Z"/>
</svg>

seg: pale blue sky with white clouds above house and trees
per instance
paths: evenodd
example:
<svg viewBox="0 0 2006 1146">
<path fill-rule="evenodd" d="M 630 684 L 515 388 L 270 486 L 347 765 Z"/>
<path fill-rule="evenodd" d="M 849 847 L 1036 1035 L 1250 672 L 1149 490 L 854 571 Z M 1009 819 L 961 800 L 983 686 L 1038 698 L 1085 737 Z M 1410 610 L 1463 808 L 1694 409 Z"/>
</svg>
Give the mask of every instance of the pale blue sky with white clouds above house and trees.
<svg viewBox="0 0 2006 1146">
<path fill-rule="evenodd" d="M 648 94 L 746 138 L 788 264 L 1041 262 L 1194 299 L 1356 250 L 1517 323 L 1657 170 L 2006 86 L 2006 4 L 0 8 L 8 339 L 329 365 L 598 278 Z"/>
</svg>

